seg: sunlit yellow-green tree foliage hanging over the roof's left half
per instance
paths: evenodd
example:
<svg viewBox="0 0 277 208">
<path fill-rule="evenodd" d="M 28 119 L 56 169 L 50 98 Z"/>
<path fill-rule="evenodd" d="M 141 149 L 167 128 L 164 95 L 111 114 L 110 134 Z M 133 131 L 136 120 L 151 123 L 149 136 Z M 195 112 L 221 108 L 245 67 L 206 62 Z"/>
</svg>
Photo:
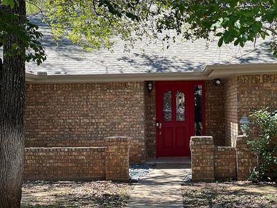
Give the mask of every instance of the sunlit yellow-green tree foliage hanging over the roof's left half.
<svg viewBox="0 0 277 208">
<path fill-rule="evenodd" d="M 150 1 L 138 0 L 47 0 L 46 19 L 56 39 L 67 37 L 87 50 L 111 49 L 113 37 L 134 43 L 150 33 L 148 6 Z"/>
</svg>

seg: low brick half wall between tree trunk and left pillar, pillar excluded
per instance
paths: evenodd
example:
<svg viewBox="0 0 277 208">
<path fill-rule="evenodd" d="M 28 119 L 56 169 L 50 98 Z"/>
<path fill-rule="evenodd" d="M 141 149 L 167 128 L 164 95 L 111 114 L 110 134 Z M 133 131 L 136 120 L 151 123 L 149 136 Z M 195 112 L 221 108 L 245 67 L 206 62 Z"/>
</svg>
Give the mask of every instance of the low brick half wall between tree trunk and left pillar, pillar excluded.
<svg viewBox="0 0 277 208">
<path fill-rule="evenodd" d="M 24 178 L 105 179 L 105 148 L 25 148 Z"/>
</svg>

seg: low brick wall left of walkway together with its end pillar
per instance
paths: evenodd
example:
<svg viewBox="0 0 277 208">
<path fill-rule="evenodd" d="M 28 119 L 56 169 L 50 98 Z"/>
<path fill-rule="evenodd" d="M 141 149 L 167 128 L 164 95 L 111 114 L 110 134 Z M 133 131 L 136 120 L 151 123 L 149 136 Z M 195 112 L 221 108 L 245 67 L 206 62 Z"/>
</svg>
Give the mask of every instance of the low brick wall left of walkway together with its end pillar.
<svg viewBox="0 0 277 208">
<path fill-rule="evenodd" d="M 129 138 L 105 138 L 105 147 L 25 148 L 24 179 L 128 180 Z"/>
</svg>

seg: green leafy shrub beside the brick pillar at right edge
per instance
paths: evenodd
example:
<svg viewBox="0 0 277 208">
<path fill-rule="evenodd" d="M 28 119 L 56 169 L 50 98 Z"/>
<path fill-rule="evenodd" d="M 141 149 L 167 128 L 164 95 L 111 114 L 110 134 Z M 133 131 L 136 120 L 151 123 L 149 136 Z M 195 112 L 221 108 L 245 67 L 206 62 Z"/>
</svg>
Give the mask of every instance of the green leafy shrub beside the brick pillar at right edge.
<svg viewBox="0 0 277 208">
<path fill-rule="evenodd" d="M 277 111 L 269 112 L 268 108 L 256 110 L 251 114 L 249 141 L 252 153 L 257 155 L 258 164 L 253 169 L 250 179 L 260 181 L 273 164 L 277 165 Z M 275 154 L 275 155 L 274 155 Z M 274 171 L 271 169 L 271 171 Z M 277 170 L 275 170 L 277 177 Z"/>
</svg>

